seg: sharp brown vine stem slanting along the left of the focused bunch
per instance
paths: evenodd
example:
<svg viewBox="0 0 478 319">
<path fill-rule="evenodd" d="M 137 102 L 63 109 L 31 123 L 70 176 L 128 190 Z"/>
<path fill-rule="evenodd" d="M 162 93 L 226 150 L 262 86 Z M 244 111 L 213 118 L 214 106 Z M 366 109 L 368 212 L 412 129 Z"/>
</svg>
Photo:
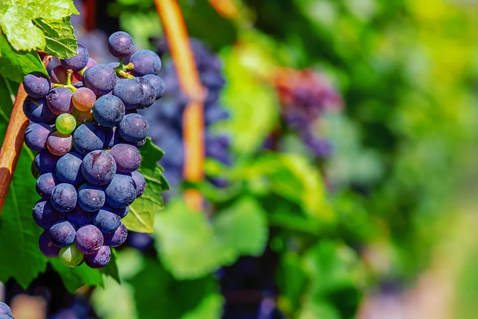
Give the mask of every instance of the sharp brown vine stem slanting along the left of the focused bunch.
<svg viewBox="0 0 478 319">
<path fill-rule="evenodd" d="M 45 55 L 43 57 L 43 65 L 46 67 L 51 59 L 51 55 Z M 29 123 L 23 114 L 22 107 L 26 96 L 27 94 L 23 89 L 23 84 L 20 83 L 0 150 L 0 214 L 3 210 L 8 189 L 10 188 L 11 179 L 15 172 L 21 148 L 23 147 L 23 134 Z"/>
</svg>

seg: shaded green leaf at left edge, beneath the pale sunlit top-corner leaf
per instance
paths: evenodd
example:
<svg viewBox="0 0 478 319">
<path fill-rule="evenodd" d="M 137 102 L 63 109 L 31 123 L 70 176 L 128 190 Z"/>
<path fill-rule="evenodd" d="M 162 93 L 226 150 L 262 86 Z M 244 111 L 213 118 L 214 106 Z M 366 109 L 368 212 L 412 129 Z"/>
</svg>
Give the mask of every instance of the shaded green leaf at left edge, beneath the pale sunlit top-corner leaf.
<svg viewBox="0 0 478 319">
<path fill-rule="evenodd" d="M 45 67 L 36 52 L 15 51 L 0 32 L 0 73 L 15 82 L 23 81 L 30 72 L 46 74 Z"/>
</svg>

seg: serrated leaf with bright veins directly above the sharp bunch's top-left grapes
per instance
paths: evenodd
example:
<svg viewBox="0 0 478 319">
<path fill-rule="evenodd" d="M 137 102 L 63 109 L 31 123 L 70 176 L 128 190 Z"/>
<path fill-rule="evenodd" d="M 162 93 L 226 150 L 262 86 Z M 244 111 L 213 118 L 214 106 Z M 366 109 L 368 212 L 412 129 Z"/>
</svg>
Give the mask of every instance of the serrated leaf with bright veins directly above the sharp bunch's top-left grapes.
<svg viewBox="0 0 478 319">
<path fill-rule="evenodd" d="M 34 22 L 45 34 L 46 45 L 43 51 L 59 59 L 70 58 L 77 54 L 75 30 L 71 25 L 69 16 L 58 20 L 40 18 Z"/>
</svg>

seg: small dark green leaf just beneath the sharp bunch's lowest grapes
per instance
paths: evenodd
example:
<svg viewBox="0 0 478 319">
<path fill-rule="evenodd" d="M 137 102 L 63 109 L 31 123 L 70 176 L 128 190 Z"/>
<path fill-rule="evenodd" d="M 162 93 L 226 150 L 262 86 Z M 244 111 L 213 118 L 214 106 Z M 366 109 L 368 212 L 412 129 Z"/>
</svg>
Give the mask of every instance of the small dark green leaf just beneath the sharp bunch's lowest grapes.
<svg viewBox="0 0 478 319">
<path fill-rule="evenodd" d="M 58 258 L 49 260 L 51 266 L 58 272 L 66 289 L 74 293 L 78 288 L 87 286 L 103 286 L 103 275 L 98 269 L 91 269 L 86 264 L 78 267 L 66 267 Z"/>
</svg>

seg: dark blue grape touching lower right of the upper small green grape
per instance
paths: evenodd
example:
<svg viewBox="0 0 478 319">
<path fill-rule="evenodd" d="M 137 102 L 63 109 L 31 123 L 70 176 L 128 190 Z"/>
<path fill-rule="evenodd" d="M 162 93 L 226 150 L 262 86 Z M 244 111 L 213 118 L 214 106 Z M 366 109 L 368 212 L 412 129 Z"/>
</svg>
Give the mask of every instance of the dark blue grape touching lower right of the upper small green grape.
<svg viewBox="0 0 478 319">
<path fill-rule="evenodd" d="M 73 133 L 73 147 L 83 155 L 101 150 L 104 145 L 105 133 L 94 123 L 82 124 Z"/>
</svg>

